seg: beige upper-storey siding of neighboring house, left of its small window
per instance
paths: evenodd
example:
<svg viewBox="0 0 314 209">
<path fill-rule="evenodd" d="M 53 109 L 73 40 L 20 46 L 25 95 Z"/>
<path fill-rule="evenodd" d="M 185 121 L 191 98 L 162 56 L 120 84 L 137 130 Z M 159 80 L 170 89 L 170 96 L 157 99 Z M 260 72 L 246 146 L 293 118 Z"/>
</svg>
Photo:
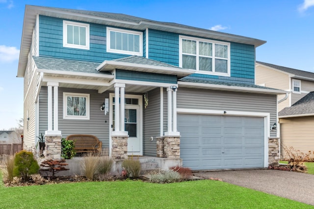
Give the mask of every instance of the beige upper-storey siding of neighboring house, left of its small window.
<svg viewBox="0 0 314 209">
<path fill-rule="evenodd" d="M 257 85 L 265 84 L 265 87 L 289 91 L 289 79 L 290 78 L 286 73 L 281 73 L 276 70 L 271 70 L 267 67 L 257 64 L 255 74 L 256 74 L 255 83 Z M 285 96 L 286 96 L 285 94 L 278 95 L 278 101 L 285 98 Z M 289 97 L 285 101 L 278 104 L 278 111 L 288 106 L 289 106 Z"/>
</svg>

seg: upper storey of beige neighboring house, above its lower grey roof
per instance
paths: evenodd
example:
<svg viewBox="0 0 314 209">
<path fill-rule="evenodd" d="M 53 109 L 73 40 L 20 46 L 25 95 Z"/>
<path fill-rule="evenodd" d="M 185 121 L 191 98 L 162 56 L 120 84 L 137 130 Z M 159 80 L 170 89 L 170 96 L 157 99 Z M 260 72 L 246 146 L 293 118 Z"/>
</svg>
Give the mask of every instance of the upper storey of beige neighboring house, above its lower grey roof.
<svg viewBox="0 0 314 209">
<path fill-rule="evenodd" d="M 256 84 L 288 91 L 279 95 L 278 112 L 314 91 L 314 73 L 256 61 Z M 287 97 L 288 96 L 288 97 Z"/>
</svg>

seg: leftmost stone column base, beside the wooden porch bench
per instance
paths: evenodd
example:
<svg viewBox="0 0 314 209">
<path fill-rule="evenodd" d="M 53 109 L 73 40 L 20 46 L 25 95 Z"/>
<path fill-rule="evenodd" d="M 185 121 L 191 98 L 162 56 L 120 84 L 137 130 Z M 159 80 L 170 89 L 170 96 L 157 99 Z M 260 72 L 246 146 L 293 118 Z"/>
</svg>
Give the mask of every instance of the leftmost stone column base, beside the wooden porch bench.
<svg viewBox="0 0 314 209">
<path fill-rule="evenodd" d="M 45 159 L 61 159 L 61 135 L 45 135 Z"/>
</svg>

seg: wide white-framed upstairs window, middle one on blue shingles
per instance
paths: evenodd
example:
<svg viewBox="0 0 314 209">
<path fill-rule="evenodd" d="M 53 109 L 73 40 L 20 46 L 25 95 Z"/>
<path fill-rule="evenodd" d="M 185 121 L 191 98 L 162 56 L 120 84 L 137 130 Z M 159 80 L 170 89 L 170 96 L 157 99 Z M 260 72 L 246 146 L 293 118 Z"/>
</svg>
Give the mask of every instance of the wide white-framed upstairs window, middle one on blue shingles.
<svg viewBox="0 0 314 209">
<path fill-rule="evenodd" d="M 143 33 L 107 27 L 107 52 L 143 56 Z"/>
</svg>

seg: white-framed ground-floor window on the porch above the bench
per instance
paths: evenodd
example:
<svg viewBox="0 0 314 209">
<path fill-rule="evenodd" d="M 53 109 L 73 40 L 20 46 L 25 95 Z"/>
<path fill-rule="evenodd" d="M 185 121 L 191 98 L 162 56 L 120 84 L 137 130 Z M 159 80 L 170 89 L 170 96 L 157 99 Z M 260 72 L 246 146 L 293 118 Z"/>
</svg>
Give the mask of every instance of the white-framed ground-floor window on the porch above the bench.
<svg viewBox="0 0 314 209">
<path fill-rule="evenodd" d="M 89 120 L 89 94 L 63 92 L 63 119 Z"/>
</svg>

